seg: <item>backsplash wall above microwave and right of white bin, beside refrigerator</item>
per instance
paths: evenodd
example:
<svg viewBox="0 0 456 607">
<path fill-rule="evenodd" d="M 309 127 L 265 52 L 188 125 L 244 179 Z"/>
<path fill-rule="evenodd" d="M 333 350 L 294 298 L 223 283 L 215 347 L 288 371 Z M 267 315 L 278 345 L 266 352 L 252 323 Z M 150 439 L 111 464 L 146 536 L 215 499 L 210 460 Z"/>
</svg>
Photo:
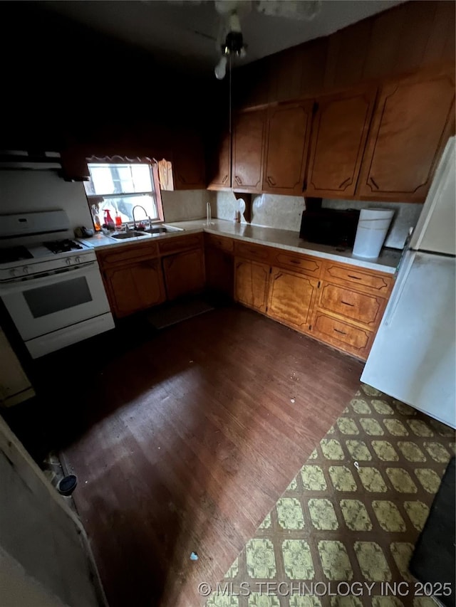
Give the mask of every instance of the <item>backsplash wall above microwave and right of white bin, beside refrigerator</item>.
<svg viewBox="0 0 456 607">
<path fill-rule="evenodd" d="M 328 209 L 394 209 L 394 217 L 390 229 L 385 238 L 385 247 L 402 249 L 409 228 L 415 228 L 418 217 L 423 209 L 423 204 L 411 204 L 407 202 L 364 202 L 358 200 L 327 200 L 323 199 L 323 207 Z"/>
</svg>

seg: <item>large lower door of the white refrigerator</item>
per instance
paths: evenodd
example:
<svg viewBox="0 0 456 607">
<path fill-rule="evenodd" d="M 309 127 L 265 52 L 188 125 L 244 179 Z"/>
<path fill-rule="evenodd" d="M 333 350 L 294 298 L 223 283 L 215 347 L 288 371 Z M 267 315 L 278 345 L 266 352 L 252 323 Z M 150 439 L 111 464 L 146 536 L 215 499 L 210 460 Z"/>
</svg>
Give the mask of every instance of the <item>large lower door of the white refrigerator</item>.
<svg viewBox="0 0 456 607">
<path fill-rule="evenodd" d="M 456 427 L 455 258 L 408 251 L 361 381 Z"/>
</svg>

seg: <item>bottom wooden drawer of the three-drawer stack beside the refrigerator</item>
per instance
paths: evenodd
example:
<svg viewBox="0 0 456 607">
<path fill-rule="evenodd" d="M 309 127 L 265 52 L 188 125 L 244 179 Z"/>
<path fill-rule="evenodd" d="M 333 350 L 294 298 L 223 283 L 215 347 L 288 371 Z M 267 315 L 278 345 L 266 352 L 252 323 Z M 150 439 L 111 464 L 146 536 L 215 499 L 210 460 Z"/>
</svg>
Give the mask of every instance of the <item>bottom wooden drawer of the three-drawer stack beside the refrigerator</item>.
<svg viewBox="0 0 456 607">
<path fill-rule="evenodd" d="M 366 360 L 374 334 L 367 329 L 316 312 L 312 333 L 323 342 Z"/>
</svg>

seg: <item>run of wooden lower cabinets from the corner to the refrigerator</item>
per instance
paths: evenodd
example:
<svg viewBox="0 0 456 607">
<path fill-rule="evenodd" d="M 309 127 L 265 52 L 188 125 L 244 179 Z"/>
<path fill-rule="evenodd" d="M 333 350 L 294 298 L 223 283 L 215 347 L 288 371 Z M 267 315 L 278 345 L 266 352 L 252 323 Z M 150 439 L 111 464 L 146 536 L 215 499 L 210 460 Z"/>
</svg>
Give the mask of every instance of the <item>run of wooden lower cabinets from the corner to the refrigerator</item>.
<svg viewBox="0 0 456 607">
<path fill-rule="evenodd" d="M 239 241 L 234 251 L 235 300 L 367 359 L 393 288 L 392 275 Z"/>
</svg>

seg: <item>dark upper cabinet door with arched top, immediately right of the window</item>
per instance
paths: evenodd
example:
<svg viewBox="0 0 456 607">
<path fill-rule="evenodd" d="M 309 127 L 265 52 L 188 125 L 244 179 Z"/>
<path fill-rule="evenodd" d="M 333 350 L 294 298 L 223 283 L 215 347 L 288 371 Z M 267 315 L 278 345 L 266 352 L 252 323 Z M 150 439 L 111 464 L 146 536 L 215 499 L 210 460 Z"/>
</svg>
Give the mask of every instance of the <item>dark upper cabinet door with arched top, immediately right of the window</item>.
<svg viewBox="0 0 456 607">
<path fill-rule="evenodd" d="M 172 169 L 175 190 L 203 189 L 204 149 L 196 132 L 182 130 L 172 149 Z"/>
</svg>

